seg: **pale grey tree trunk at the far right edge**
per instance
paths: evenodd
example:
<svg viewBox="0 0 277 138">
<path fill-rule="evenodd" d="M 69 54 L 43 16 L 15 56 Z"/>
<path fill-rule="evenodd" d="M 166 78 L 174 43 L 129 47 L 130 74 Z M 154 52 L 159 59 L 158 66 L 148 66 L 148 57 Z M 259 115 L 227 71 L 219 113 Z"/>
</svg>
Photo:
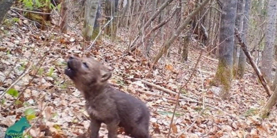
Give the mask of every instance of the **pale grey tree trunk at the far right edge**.
<svg viewBox="0 0 277 138">
<path fill-rule="evenodd" d="M 261 72 L 268 83 L 271 83 L 271 70 L 273 62 L 274 40 L 276 30 L 276 4 L 277 0 L 269 0 L 267 5 L 267 26 L 265 34 L 265 47 L 263 49 Z"/>
</svg>

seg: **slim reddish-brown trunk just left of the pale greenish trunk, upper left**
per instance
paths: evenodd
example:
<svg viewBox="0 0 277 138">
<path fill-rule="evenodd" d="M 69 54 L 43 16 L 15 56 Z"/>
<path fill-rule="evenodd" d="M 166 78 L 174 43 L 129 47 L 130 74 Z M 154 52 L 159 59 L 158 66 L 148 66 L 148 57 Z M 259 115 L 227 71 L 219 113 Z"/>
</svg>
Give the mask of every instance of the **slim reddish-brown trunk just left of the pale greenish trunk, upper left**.
<svg viewBox="0 0 277 138">
<path fill-rule="evenodd" d="M 68 1 L 63 0 L 61 2 L 61 32 L 66 33 L 68 29 L 68 7 L 67 7 Z"/>
</svg>

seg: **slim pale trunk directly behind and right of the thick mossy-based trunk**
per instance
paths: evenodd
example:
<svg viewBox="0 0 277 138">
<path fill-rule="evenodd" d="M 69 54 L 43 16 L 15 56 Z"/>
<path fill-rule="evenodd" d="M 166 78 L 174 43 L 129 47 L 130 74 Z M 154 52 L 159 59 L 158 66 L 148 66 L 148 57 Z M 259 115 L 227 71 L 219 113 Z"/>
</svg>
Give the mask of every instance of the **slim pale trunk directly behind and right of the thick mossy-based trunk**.
<svg viewBox="0 0 277 138">
<path fill-rule="evenodd" d="M 243 23 L 243 0 L 237 0 L 237 15 L 235 21 L 235 27 L 240 31 L 242 31 L 242 23 Z M 238 63 L 239 63 L 239 51 L 240 46 L 238 45 L 237 38 L 235 38 L 234 44 L 234 52 L 233 52 L 233 77 L 237 75 Z"/>
</svg>

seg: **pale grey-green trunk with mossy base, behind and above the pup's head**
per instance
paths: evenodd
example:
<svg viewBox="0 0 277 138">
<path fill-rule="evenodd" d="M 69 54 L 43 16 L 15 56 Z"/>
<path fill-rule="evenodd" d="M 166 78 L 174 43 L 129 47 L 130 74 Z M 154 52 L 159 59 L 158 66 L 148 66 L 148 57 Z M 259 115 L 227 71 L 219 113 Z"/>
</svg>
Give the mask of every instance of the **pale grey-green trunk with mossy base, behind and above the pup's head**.
<svg viewBox="0 0 277 138">
<path fill-rule="evenodd" d="M 85 21 L 84 21 L 84 37 L 86 41 L 90 41 L 93 33 L 93 26 L 95 23 L 96 12 L 98 7 L 98 0 L 87 0 L 85 7 Z"/>
</svg>

